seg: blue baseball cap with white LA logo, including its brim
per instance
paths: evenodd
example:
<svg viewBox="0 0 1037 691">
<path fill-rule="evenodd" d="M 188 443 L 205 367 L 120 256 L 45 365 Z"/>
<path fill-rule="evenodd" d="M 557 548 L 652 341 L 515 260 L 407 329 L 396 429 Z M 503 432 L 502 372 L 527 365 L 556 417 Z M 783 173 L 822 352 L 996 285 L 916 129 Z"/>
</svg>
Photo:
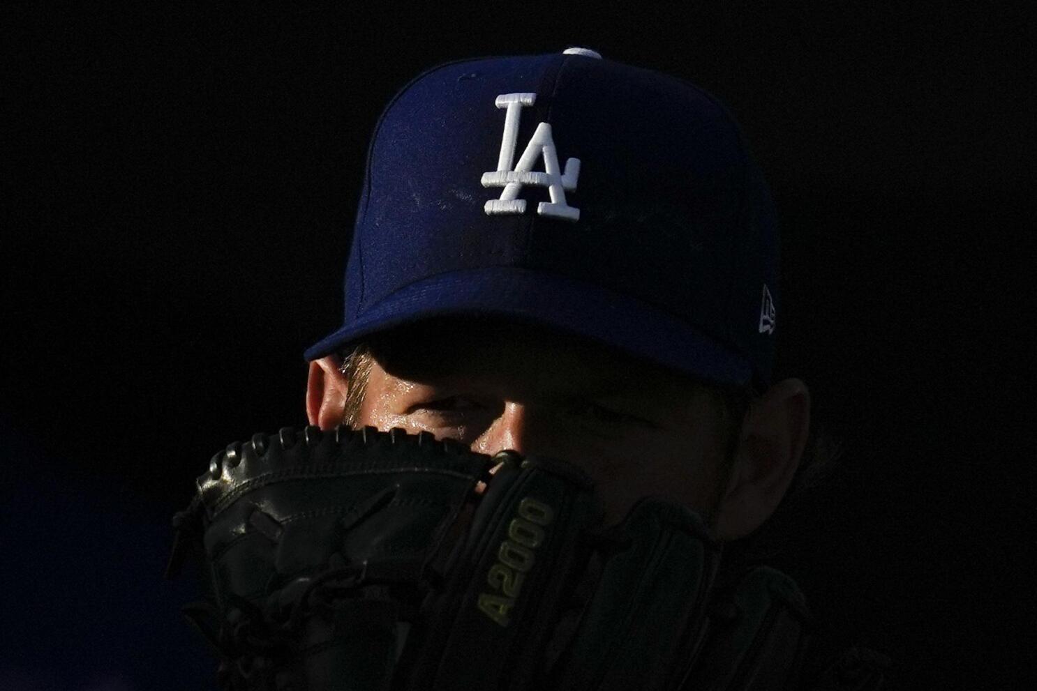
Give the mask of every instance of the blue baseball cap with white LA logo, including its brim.
<svg viewBox="0 0 1037 691">
<path fill-rule="evenodd" d="M 773 203 L 713 96 L 587 49 L 466 60 L 379 120 L 344 324 L 306 358 L 493 315 L 765 391 L 778 298 Z"/>
</svg>

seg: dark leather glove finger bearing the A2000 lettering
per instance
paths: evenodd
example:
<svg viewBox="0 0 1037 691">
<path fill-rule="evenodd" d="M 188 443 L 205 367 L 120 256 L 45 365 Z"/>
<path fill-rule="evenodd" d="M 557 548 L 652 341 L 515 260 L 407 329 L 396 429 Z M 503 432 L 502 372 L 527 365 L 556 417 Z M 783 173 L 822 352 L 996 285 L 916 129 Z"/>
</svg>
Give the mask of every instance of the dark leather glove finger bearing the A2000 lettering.
<svg viewBox="0 0 1037 691">
<path fill-rule="evenodd" d="M 539 672 L 559 602 L 583 569 L 580 537 L 600 519 L 587 477 L 527 459 L 489 483 L 430 624 L 408 689 L 520 689 Z M 404 656 L 407 653 L 404 653 Z"/>
</svg>

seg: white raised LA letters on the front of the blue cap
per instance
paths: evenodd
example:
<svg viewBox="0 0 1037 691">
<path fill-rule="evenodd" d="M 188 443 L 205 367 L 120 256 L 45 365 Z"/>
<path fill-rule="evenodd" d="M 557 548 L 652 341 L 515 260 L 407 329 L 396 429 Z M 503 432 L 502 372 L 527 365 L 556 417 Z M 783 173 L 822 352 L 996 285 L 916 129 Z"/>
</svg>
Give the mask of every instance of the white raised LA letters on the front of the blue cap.
<svg viewBox="0 0 1037 691">
<path fill-rule="evenodd" d="M 487 214 L 523 213 L 526 210 L 526 200 L 516 199 L 523 185 L 531 184 L 548 188 L 551 202 L 540 202 L 536 212 L 540 215 L 567 221 L 579 221 L 580 209 L 565 202 L 565 192 L 577 189 L 577 178 L 580 177 L 580 160 L 569 159 L 565 162 L 565 172 L 558 165 L 558 153 L 555 141 L 551 137 L 551 125 L 541 122 L 537 125 L 533 138 L 526 145 L 518 159 L 518 165 L 511 169 L 515 155 L 515 140 L 518 138 L 518 118 L 524 106 L 532 106 L 536 102 L 535 93 L 502 93 L 497 96 L 497 107 L 507 109 L 504 116 L 504 139 L 501 141 L 501 155 L 497 160 L 497 170 L 482 174 L 482 186 L 504 188 L 500 199 L 486 202 Z M 543 156 L 544 172 L 533 170 L 537 159 Z"/>
</svg>

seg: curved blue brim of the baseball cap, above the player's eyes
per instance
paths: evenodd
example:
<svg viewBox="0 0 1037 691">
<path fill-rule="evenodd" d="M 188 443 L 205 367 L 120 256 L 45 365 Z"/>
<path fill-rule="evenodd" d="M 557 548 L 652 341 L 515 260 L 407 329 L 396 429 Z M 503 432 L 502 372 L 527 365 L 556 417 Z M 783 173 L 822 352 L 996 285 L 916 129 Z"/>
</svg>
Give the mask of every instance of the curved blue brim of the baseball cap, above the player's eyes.
<svg viewBox="0 0 1037 691">
<path fill-rule="evenodd" d="M 542 271 L 492 267 L 413 283 L 306 350 L 312 361 L 364 337 L 449 315 L 512 317 L 553 326 L 717 383 L 745 385 L 749 363 L 695 326 L 636 298 Z"/>
</svg>

